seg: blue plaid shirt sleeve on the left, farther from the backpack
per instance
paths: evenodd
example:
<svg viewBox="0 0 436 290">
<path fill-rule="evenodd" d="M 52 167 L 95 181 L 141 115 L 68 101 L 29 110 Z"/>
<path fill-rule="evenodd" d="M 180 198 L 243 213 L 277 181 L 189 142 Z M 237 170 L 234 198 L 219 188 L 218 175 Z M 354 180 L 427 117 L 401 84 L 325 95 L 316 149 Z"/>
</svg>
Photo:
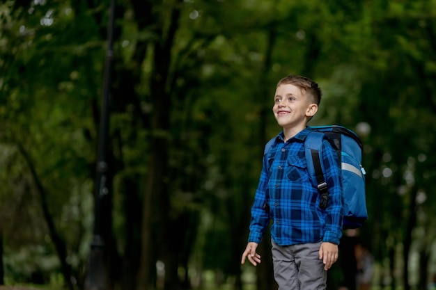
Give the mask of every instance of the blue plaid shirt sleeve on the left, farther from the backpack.
<svg viewBox="0 0 436 290">
<path fill-rule="evenodd" d="M 266 172 L 265 156 L 263 157 L 263 168 L 260 172 L 259 184 L 251 206 L 251 223 L 249 242 L 260 243 L 262 236 L 270 223 L 270 213 L 266 206 L 266 188 L 268 176 Z"/>
</svg>

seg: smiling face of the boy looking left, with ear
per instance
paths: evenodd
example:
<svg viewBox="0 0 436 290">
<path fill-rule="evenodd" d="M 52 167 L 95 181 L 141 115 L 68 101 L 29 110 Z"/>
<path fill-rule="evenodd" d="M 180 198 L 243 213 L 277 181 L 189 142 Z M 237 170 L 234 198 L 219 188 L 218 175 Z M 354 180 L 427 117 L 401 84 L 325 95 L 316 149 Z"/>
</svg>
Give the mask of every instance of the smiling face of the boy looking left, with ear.
<svg viewBox="0 0 436 290">
<path fill-rule="evenodd" d="M 290 83 L 277 87 L 272 112 L 283 129 L 301 131 L 317 110 L 318 106 L 309 102 L 304 90 Z"/>
</svg>

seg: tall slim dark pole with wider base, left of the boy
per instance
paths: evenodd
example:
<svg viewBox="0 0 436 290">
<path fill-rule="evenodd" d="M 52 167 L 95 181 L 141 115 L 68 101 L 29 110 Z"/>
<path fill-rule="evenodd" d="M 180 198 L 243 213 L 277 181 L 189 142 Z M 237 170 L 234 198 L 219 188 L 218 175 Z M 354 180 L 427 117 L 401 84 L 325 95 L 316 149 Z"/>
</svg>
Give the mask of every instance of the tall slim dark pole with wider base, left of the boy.
<svg viewBox="0 0 436 290">
<path fill-rule="evenodd" d="M 102 200 L 109 194 L 107 140 L 109 136 L 109 86 L 111 81 L 111 65 L 114 55 L 114 10 L 115 1 L 111 0 L 109 8 L 109 24 L 107 27 L 107 52 L 104 64 L 104 82 L 102 90 L 102 108 L 100 112 L 100 134 L 98 140 L 98 161 L 95 175 L 94 199 L 94 233 L 91 242 L 91 254 L 88 272 L 85 279 L 85 290 L 107 290 L 107 265 L 104 263 L 104 237 L 102 236 Z"/>
</svg>

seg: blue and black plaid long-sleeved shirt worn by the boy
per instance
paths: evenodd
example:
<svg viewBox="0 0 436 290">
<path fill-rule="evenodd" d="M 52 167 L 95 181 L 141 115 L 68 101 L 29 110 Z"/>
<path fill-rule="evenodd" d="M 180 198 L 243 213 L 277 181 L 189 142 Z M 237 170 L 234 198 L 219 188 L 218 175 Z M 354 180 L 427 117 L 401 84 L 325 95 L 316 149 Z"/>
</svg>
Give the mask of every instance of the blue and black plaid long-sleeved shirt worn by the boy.
<svg viewBox="0 0 436 290">
<path fill-rule="evenodd" d="M 320 157 L 329 188 L 327 209 L 320 209 L 315 177 L 310 177 L 304 155 L 306 128 L 290 140 L 277 136 L 263 157 L 263 168 L 251 207 L 249 242 L 260 243 L 270 224 L 272 240 L 278 245 L 316 243 L 339 244 L 342 236 L 343 195 L 338 156 L 328 140 L 323 140 Z"/>
</svg>

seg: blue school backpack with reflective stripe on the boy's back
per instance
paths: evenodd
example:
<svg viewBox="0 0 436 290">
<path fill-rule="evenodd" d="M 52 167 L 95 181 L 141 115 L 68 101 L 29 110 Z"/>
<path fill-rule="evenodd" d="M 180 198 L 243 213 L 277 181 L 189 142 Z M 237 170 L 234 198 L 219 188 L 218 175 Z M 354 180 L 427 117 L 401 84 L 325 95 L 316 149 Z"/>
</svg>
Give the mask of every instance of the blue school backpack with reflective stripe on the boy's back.
<svg viewBox="0 0 436 290">
<path fill-rule="evenodd" d="M 327 140 L 338 154 L 341 164 L 341 182 L 344 201 L 343 229 L 361 227 L 368 219 L 365 197 L 365 170 L 361 166 L 362 143 L 357 134 L 337 125 L 311 127 L 312 132 L 304 142 L 307 168 L 316 180 L 320 193 L 320 208 L 327 207 L 329 193 L 324 177 L 324 164 L 321 162 L 322 139 Z M 265 152 L 270 151 L 275 138 L 265 145 Z"/>
</svg>

